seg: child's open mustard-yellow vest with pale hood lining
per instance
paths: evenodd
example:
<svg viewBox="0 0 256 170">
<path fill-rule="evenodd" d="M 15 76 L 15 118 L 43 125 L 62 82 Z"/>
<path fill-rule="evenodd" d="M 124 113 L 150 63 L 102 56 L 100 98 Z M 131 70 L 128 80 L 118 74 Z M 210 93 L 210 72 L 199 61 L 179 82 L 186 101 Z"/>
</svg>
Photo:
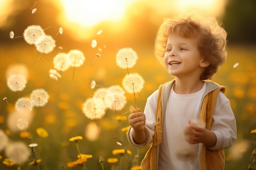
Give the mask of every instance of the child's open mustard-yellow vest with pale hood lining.
<svg viewBox="0 0 256 170">
<path fill-rule="evenodd" d="M 152 146 L 149 148 L 144 159 L 141 161 L 142 170 L 157 170 L 159 144 L 162 142 L 162 117 L 165 115 L 168 96 L 170 94 L 171 86 L 174 82 L 175 80 L 159 86 L 155 135 L 153 137 Z M 225 93 L 226 88 L 225 86 L 220 86 L 214 82 L 205 83 L 207 83 L 207 90 L 204 94 L 204 100 L 202 102 L 199 119 L 200 121 L 205 122 L 206 128 L 210 130 L 216 98 L 219 91 Z M 224 150 L 209 150 L 203 144 L 199 161 L 200 170 L 224 170 Z"/>
</svg>

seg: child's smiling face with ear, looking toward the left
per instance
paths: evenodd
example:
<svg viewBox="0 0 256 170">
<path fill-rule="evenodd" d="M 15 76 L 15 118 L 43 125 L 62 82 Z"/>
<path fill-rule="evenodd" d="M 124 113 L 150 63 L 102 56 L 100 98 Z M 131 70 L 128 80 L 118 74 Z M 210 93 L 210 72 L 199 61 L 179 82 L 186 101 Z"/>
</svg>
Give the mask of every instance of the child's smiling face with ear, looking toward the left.
<svg viewBox="0 0 256 170">
<path fill-rule="evenodd" d="M 166 44 L 164 65 L 168 73 L 175 77 L 200 79 L 204 68 L 209 64 L 198 51 L 197 38 L 171 34 Z"/>
</svg>

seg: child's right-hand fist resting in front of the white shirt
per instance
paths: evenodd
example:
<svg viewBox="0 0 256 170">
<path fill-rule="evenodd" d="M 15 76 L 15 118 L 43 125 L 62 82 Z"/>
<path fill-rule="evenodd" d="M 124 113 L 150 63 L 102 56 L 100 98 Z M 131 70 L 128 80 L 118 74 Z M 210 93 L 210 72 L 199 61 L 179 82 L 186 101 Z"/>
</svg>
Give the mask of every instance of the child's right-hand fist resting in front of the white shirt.
<svg viewBox="0 0 256 170">
<path fill-rule="evenodd" d="M 193 122 L 189 120 L 189 126 L 186 126 L 184 134 L 186 136 L 186 141 L 189 144 L 203 143 L 205 138 L 206 128 L 200 126 L 198 122 Z"/>
</svg>

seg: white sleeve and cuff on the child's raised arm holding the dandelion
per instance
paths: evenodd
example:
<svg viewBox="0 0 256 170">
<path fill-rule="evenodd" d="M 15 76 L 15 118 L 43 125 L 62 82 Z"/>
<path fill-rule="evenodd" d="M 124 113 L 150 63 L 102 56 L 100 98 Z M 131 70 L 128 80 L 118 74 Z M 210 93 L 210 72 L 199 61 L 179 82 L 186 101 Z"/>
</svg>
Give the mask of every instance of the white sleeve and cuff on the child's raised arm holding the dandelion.
<svg viewBox="0 0 256 170">
<path fill-rule="evenodd" d="M 130 126 L 128 130 L 128 140 L 133 146 L 145 147 L 148 144 L 152 143 L 153 136 L 155 134 L 157 95 L 158 90 L 148 97 L 144 109 L 144 114 L 146 116 L 146 141 L 143 144 L 136 144 L 132 139 L 132 127 Z"/>
</svg>

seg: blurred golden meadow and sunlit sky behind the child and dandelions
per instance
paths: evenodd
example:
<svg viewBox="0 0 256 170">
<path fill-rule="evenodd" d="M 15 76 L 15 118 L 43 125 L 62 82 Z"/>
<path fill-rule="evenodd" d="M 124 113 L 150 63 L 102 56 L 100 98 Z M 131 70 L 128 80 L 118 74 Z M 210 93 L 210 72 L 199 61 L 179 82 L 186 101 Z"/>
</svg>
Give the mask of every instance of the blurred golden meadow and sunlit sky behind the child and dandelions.
<svg viewBox="0 0 256 170">
<path fill-rule="evenodd" d="M 35 8 L 36 13 L 32 14 Z M 7 87 L 7 79 L 9 71 L 14 69 L 27 75 L 27 85 L 19 92 L 20 97 L 29 97 L 37 88 L 49 94 L 45 106 L 33 109 L 29 125 L 33 142 L 38 144 L 36 154 L 41 159 L 41 170 L 81 169 L 81 166 L 67 167 L 68 162 L 77 159 L 76 144 L 69 141 L 76 136 L 83 137 L 78 143 L 80 152 L 92 155 L 86 162 L 88 170 L 102 169 L 101 156 L 106 170 L 139 165 L 148 147 L 135 148 L 126 137 L 128 111 L 130 105 L 135 105 L 134 95 L 126 93 L 127 104 L 123 110 L 106 110 L 106 115 L 97 120 L 99 132 L 96 121 L 83 114 L 82 104 L 99 88 L 90 88 L 92 80 L 99 86 L 122 86 L 127 70 L 117 66 L 115 57 L 119 49 L 130 47 L 136 51 L 138 60 L 129 72 L 139 73 L 145 80 L 143 90 L 135 95 L 137 106 L 143 110 L 147 97 L 160 84 L 173 79 L 154 57 L 157 29 L 164 18 L 195 10 L 216 16 L 228 33 L 228 58 L 213 81 L 227 87 L 225 94 L 237 121 L 238 139 L 233 147 L 225 150 L 225 169 L 245 170 L 252 164 L 251 155 L 256 148 L 256 134 L 251 133 L 256 129 L 255 9 L 255 0 L 0 0 L 0 97 L 3 98 L 0 129 L 9 141 L 29 144 L 20 131 L 10 129 L 9 117 L 15 110 L 18 94 Z M 45 54 L 43 61 L 42 58 L 38 61 L 41 53 L 24 38 L 9 37 L 11 31 L 14 37 L 22 35 L 30 25 L 40 25 L 56 40 L 55 49 Z M 58 33 L 60 27 L 63 34 Z M 96 48 L 92 48 L 92 40 L 97 40 Z M 102 51 L 97 57 L 99 48 Z M 58 81 L 51 79 L 49 70 L 54 69 L 53 58 L 59 52 L 68 53 L 73 49 L 83 52 L 86 58 L 83 65 L 63 71 Z M 45 129 L 48 136 L 40 137 L 37 128 Z M 120 163 L 123 155 L 112 152 L 121 148 L 130 150 L 125 154 L 125 168 Z M 118 159 L 115 164 L 107 161 L 113 157 Z M 3 163 L 7 158 L 4 150 L 0 150 L 0 158 L 0 170 L 19 167 L 7 167 Z M 22 164 L 23 169 L 36 168 L 29 165 L 30 161 Z"/>
</svg>

